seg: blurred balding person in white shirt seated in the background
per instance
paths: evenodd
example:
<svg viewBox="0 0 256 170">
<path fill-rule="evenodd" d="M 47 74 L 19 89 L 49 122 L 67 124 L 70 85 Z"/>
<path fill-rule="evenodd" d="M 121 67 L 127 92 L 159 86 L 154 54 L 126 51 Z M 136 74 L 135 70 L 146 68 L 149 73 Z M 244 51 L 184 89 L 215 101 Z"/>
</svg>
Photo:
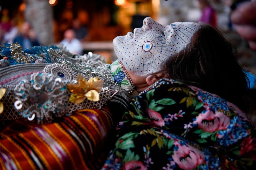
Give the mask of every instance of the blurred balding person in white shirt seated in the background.
<svg viewBox="0 0 256 170">
<path fill-rule="evenodd" d="M 76 38 L 76 33 L 73 29 L 67 29 L 64 32 L 64 39 L 60 41 L 60 44 L 62 44 L 63 47 L 66 47 L 70 53 L 79 55 L 82 55 L 83 53 L 83 46 Z"/>
</svg>

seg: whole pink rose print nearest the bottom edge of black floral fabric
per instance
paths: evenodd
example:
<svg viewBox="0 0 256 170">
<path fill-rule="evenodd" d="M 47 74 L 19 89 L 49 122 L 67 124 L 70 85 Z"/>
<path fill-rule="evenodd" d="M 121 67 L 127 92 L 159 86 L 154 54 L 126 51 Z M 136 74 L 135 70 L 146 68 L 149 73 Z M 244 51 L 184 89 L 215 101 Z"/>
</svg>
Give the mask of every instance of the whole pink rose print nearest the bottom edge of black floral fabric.
<svg viewBox="0 0 256 170">
<path fill-rule="evenodd" d="M 181 169 L 194 169 L 204 162 L 204 152 L 193 146 L 183 145 L 178 151 L 174 151 L 172 158 Z"/>
</svg>

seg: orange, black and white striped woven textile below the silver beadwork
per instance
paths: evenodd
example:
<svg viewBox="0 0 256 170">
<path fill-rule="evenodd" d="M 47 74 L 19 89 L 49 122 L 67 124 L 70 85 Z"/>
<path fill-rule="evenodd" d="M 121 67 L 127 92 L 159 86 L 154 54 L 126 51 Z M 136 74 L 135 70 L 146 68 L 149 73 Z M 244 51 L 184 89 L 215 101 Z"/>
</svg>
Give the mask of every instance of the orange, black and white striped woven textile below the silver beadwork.
<svg viewBox="0 0 256 170">
<path fill-rule="evenodd" d="M 15 121 L 0 133 L 0 169 L 100 169 L 108 154 L 111 117 L 105 107 L 44 125 Z"/>
</svg>

